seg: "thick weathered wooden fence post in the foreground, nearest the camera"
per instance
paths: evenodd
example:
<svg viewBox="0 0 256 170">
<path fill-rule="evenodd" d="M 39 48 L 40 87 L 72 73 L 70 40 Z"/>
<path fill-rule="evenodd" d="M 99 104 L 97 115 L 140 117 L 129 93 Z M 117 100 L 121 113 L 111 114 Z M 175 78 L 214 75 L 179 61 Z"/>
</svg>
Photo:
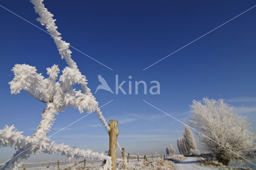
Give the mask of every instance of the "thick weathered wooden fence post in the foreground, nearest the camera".
<svg viewBox="0 0 256 170">
<path fill-rule="evenodd" d="M 109 121 L 109 127 L 110 130 L 108 132 L 109 134 L 109 156 L 111 156 L 112 160 L 112 170 L 116 170 L 116 143 L 117 143 L 117 136 L 119 134 L 118 130 L 118 122 L 116 120 L 110 120 Z"/>
</svg>

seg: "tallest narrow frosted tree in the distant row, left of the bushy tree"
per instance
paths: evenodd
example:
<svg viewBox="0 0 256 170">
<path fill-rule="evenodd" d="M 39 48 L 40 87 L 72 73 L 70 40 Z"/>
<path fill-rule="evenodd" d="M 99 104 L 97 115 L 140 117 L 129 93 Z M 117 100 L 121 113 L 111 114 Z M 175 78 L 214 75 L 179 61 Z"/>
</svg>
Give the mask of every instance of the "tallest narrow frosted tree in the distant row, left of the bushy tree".
<svg viewBox="0 0 256 170">
<path fill-rule="evenodd" d="M 186 125 L 184 125 L 183 136 L 188 152 L 191 152 L 191 150 L 196 150 L 196 141 L 194 139 L 193 133 L 191 129 Z"/>
</svg>

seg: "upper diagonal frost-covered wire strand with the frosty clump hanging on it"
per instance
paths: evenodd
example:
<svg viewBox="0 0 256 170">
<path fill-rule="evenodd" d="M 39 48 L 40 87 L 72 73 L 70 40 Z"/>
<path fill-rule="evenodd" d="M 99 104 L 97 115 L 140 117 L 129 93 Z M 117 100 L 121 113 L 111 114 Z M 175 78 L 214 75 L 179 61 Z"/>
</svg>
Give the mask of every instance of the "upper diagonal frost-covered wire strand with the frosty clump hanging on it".
<svg viewBox="0 0 256 170">
<path fill-rule="evenodd" d="M 66 104 L 68 104 L 69 107 L 71 106 L 72 108 L 78 108 L 80 113 L 82 113 L 83 110 L 86 110 L 87 112 L 97 110 L 96 114 L 100 118 L 100 121 L 102 122 L 104 127 L 109 131 L 106 121 L 102 116 L 100 110 L 98 109 L 98 102 L 96 102 L 94 96 L 92 96 L 92 93 L 90 92 L 90 89 L 86 86 L 86 77 L 81 74 L 81 72 L 77 68 L 76 63 L 71 58 L 72 52 L 69 50 L 69 43 L 61 40 L 61 34 L 57 31 L 57 26 L 55 25 L 56 20 L 52 18 L 53 14 L 48 12 L 48 10 L 44 7 L 44 4 L 42 3 L 43 0 L 30 0 L 30 2 L 34 4 L 34 9 L 36 13 L 38 13 L 40 16 L 39 18 L 37 18 L 37 20 L 42 25 L 46 26 L 47 31 L 51 34 L 52 38 L 54 39 L 54 42 L 58 48 L 61 58 L 64 58 L 68 64 L 68 67 L 64 68 L 64 70 L 62 71 L 62 75 L 60 76 L 61 84 L 59 87 L 61 88 L 61 90 L 59 91 L 59 95 L 61 95 L 62 92 L 70 92 L 70 89 L 73 89 L 72 85 L 74 84 L 80 84 L 82 88 L 81 93 L 86 95 L 86 98 L 77 98 L 78 96 L 80 96 L 80 91 L 74 91 L 72 93 L 77 93 L 74 99 L 68 96 L 67 93 L 67 96 L 65 95 L 66 98 L 63 99 L 63 102 L 66 102 Z M 74 102 L 74 100 L 76 101 Z"/>
</svg>

